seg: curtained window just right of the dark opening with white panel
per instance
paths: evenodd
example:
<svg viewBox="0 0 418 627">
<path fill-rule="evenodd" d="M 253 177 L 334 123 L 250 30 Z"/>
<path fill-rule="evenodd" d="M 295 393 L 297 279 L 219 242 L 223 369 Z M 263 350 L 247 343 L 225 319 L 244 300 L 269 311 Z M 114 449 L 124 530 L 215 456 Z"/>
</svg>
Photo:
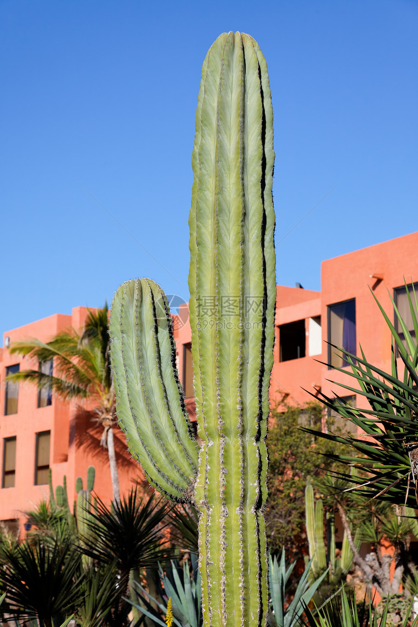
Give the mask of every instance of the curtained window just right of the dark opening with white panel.
<svg viewBox="0 0 418 627">
<path fill-rule="evenodd" d="M 347 350 L 353 355 L 357 352 L 354 298 L 328 307 L 328 342 L 328 367 L 348 366 L 347 359 L 335 352 L 333 346 Z"/>
</svg>

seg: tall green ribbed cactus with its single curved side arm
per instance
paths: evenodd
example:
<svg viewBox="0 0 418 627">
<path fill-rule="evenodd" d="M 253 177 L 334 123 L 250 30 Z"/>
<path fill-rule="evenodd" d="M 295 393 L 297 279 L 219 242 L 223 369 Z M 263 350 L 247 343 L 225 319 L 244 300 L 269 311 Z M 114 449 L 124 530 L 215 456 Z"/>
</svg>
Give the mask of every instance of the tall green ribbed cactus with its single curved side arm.
<svg viewBox="0 0 418 627">
<path fill-rule="evenodd" d="M 266 623 L 273 161 L 266 61 L 253 38 L 224 33 L 202 67 L 192 153 L 189 311 L 201 444 L 185 411 L 164 292 L 133 280 L 112 305 L 120 426 L 155 488 L 199 510 L 202 608 L 211 627 Z"/>
</svg>

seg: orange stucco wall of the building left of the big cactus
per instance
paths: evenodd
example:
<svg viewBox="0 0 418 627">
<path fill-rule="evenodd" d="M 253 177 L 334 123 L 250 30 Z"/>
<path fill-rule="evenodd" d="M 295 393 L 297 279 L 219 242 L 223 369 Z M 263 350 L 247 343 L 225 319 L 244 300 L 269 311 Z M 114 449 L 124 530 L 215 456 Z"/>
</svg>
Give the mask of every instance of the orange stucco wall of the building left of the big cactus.
<svg viewBox="0 0 418 627">
<path fill-rule="evenodd" d="M 43 320 L 13 329 L 4 334 L 13 343 L 17 340 L 39 339 L 44 342 L 64 329 L 80 330 L 88 313 L 86 307 L 76 307 L 71 315 L 56 314 Z M 3 342 L 0 353 L 0 377 L 3 381 L 6 367 L 20 364 L 20 369 L 38 369 L 38 363 L 28 357 L 12 355 Z M 34 485 L 36 433 L 51 431 L 50 468 L 53 487 L 62 485 L 66 475 L 70 505 L 76 497 L 75 481 L 78 476 L 86 481 L 87 468 L 95 466 L 95 492 L 105 502 L 112 498 L 107 451 L 100 446 L 102 428 L 97 426 L 94 415 L 80 415 L 75 403 L 65 403 L 53 396 L 52 404 L 38 408 L 38 391 L 31 384 L 19 384 L 18 412 L 4 415 L 5 385 L 0 386 L 0 462 L 3 476 L 4 438 L 16 436 L 16 473 L 13 488 L 0 489 L 0 520 L 19 519 L 22 527 L 26 522 L 25 510 L 48 498 L 48 485 Z M 85 407 L 88 409 L 88 406 Z M 136 462 L 127 453 L 122 431 L 117 427 L 115 449 L 119 469 L 121 492 L 126 492 L 144 477 Z"/>
</svg>

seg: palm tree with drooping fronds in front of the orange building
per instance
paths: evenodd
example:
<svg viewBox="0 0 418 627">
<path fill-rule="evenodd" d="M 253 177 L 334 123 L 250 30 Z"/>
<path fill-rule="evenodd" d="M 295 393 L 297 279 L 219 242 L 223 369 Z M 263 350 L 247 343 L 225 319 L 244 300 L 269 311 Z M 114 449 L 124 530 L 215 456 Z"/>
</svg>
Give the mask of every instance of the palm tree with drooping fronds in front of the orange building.
<svg viewBox="0 0 418 627">
<path fill-rule="evenodd" d="M 98 423 L 103 426 L 101 444 L 108 451 L 113 500 L 120 502 L 113 425 L 115 424 L 115 393 L 109 355 L 107 303 L 96 312 L 89 310 L 83 332 L 61 331 L 46 344 L 37 339 L 13 342 L 11 353 L 27 355 L 39 363 L 53 360 L 54 372 L 41 369 L 22 370 L 10 374 L 8 381 L 30 382 L 50 389 L 65 401 L 90 401 L 95 405 Z"/>
</svg>

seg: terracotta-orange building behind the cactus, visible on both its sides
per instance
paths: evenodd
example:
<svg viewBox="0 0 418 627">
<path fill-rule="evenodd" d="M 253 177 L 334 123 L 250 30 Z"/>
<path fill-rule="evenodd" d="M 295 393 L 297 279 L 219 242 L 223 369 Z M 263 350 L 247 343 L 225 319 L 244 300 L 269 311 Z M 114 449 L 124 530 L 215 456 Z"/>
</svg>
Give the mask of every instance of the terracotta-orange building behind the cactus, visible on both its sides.
<svg viewBox="0 0 418 627">
<path fill-rule="evenodd" d="M 307 391 L 313 394 L 323 391 L 328 396 L 338 394 L 357 404 L 355 394 L 338 386 L 343 383 L 344 375 L 326 365 L 344 366 L 328 342 L 350 352 L 358 352 L 361 344 L 368 361 L 384 370 L 390 369 L 390 332 L 372 294 L 391 315 L 392 296 L 408 320 L 404 277 L 409 285 L 418 282 L 417 250 L 418 233 L 412 233 L 323 261 L 321 292 L 278 285 L 272 404 L 279 409 L 283 403 L 303 406 L 312 399 Z M 11 342 L 33 337 L 48 341 L 60 330 L 69 327 L 81 330 L 86 314 L 85 307 L 76 307 L 71 315 L 52 315 L 6 332 L 0 349 L 0 380 L 18 367 L 36 367 L 29 363 L 28 357 L 9 354 Z M 191 328 L 187 314 L 187 304 L 180 305 L 174 317 L 175 341 L 186 406 L 194 419 Z M 412 324 L 409 326 L 412 330 Z M 85 479 L 88 466 L 94 465 L 95 492 L 106 502 L 110 501 L 107 451 L 100 447 L 102 428 L 94 423 L 91 414 L 54 398 L 48 389 L 38 393 L 29 384 L 18 387 L 4 383 L 0 389 L 0 414 L 0 520 L 8 527 L 19 525 L 22 529 L 26 522 L 23 512 L 48 497 L 49 468 L 54 487 L 62 484 L 66 475 L 71 503 L 75 498 L 76 477 Z M 115 428 L 114 433 L 123 493 L 142 482 L 143 477 L 127 453 L 122 432 Z"/>
</svg>

